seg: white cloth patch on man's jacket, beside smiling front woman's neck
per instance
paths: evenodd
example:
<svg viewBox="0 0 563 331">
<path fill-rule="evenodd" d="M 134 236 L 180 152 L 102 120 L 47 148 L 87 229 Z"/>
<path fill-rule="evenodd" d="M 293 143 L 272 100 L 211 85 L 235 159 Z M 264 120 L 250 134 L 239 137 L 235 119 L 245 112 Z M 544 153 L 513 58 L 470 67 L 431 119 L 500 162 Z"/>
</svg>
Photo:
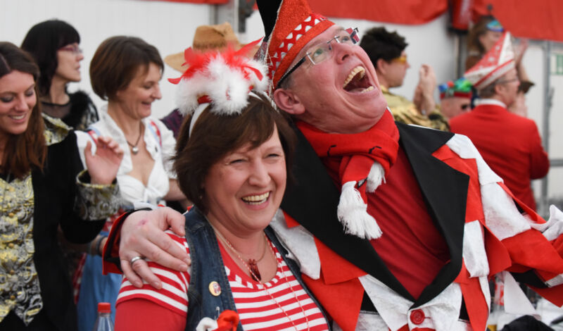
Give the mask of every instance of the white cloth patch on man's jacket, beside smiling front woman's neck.
<svg viewBox="0 0 563 331">
<path fill-rule="evenodd" d="M 270 226 L 276 232 L 276 235 L 289 252 L 289 258 L 297 261 L 301 268 L 301 273 L 308 275 L 314 280 L 320 278 L 321 261 L 315 238 L 305 227 L 299 225 L 296 227 L 287 227 L 284 213 L 278 209 L 276 215 L 270 222 Z"/>
</svg>

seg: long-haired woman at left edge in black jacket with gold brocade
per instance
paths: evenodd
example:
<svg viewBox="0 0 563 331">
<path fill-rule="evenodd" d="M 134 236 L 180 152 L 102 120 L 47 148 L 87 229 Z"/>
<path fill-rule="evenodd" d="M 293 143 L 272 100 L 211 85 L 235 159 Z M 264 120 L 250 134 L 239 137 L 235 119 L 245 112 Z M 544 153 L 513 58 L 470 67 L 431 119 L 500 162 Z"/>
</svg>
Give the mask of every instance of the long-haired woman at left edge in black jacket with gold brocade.
<svg viewBox="0 0 563 331">
<path fill-rule="evenodd" d="M 77 313 L 61 247 L 89 242 L 115 213 L 112 185 L 123 151 L 106 137 L 87 146 L 42 116 L 33 58 L 0 42 L 0 330 L 75 330 Z"/>
</svg>

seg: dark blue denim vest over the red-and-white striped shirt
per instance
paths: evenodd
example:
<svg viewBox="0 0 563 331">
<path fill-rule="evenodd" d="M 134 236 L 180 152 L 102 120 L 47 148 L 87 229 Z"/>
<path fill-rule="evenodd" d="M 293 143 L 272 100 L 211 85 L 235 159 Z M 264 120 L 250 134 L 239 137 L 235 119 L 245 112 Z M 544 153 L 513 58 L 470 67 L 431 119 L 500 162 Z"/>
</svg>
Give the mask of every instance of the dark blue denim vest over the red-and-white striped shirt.
<svg viewBox="0 0 563 331">
<path fill-rule="evenodd" d="M 209 317 L 215 320 L 222 311 L 227 309 L 236 311 L 236 308 L 234 306 L 229 280 L 224 271 L 224 263 L 213 227 L 211 227 L 208 220 L 196 206 L 191 208 L 189 213 L 185 214 L 185 218 L 186 239 L 191 257 L 191 273 L 188 289 L 189 308 L 186 331 L 193 331 L 196 330 L 196 326 L 202 318 Z M 278 249 L 285 263 L 293 275 L 295 275 L 296 280 L 301 284 L 301 287 L 309 294 L 312 301 L 320 308 L 324 319 L 327 320 L 327 316 L 324 315 L 324 311 L 317 302 L 317 299 L 312 296 L 309 289 L 303 284 L 297 263 L 286 258 L 286 249 L 281 246 L 277 237 L 274 235 L 274 231 L 270 227 L 267 227 L 264 232 L 272 244 Z M 218 296 L 211 294 L 209 289 L 210 282 L 214 281 L 221 287 L 221 294 Z M 328 320 L 327 325 L 330 327 Z M 236 330 L 243 330 L 240 322 Z"/>
</svg>

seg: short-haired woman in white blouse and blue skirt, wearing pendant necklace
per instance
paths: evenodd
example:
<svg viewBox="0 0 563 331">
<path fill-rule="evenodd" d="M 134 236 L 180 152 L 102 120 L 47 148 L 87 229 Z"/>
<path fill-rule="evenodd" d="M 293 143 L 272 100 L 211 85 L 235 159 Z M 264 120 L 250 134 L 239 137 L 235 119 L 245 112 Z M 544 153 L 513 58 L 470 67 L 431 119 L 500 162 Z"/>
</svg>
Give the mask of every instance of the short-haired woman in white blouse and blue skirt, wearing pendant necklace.
<svg viewBox="0 0 563 331">
<path fill-rule="evenodd" d="M 90 126 L 89 134 L 113 137 L 125 151 L 117 176 L 124 208 L 185 200 L 170 161 L 176 140 L 151 116 L 153 102 L 162 97 L 159 82 L 163 68 L 156 47 L 125 36 L 104 40 L 90 63 L 92 89 L 108 104 L 101 108 L 100 120 Z M 105 244 L 111 224 L 108 221 L 92 246 Z M 91 255 L 84 264 L 78 299 L 81 331 L 93 327 L 98 302 L 115 304 L 118 296 L 121 277 L 102 275 L 101 264 L 100 256 Z M 115 316 L 115 309 L 112 311 Z"/>
</svg>

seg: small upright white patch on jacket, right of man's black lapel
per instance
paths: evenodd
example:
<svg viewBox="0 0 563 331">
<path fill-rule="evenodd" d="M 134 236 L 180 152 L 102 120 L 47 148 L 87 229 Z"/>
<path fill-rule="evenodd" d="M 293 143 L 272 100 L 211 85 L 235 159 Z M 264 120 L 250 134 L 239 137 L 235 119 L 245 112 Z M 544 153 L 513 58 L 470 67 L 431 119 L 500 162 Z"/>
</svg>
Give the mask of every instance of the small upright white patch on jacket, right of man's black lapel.
<svg viewBox="0 0 563 331">
<path fill-rule="evenodd" d="M 463 231 L 463 261 L 471 277 L 488 275 L 488 258 L 479 220 L 465 223 Z"/>
</svg>

